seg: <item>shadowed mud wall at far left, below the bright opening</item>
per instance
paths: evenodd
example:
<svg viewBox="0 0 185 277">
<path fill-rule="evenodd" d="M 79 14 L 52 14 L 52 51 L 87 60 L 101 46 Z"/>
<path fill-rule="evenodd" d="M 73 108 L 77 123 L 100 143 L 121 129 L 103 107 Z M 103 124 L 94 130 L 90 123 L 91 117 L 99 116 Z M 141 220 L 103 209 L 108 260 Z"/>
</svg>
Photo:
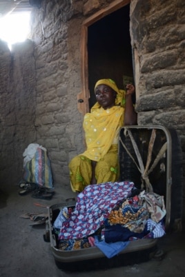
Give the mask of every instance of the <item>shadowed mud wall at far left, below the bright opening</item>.
<svg viewBox="0 0 185 277">
<path fill-rule="evenodd" d="M 0 182 L 21 178 L 23 151 L 35 141 L 35 59 L 32 41 L 10 52 L 0 41 Z"/>
</svg>

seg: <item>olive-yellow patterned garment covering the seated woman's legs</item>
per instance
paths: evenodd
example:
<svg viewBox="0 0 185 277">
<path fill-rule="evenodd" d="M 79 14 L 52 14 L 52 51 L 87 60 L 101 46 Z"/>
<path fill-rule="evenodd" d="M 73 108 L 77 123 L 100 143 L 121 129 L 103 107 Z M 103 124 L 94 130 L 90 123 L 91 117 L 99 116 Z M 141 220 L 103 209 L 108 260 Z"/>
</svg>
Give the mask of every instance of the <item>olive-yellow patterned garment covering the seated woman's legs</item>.
<svg viewBox="0 0 185 277">
<path fill-rule="evenodd" d="M 90 184 L 92 178 L 91 161 L 86 156 L 79 155 L 72 158 L 69 164 L 72 191 L 82 192 Z M 110 147 L 108 153 L 101 158 L 95 167 L 97 183 L 107 180 L 114 183 L 119 178 L 119 165 L 117 159 L 117 145 Z"/>
</svg>

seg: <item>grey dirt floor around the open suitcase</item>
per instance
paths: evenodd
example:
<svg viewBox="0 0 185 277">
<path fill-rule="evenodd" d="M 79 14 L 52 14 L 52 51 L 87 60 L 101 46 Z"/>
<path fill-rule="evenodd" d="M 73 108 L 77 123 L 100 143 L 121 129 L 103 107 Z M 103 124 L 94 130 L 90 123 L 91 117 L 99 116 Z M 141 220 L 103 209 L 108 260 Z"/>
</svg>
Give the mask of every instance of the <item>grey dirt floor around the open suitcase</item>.
<svg viewBox="0 0 185 277">
<path fill-rule="evenodd" d="M 185 276 L 185 236 L 183 231 L 166 234 L 157 242 L 159 249 L 164 251 L 162 260 L 150 259 L 144 263 L 98 269 L 93 271 L 64 271 L 55 264 L 50 243 L 43 240 L 45 224 L 30 226 L 30 219 L 21 218 L 25 213 L 47 213 L 46 207 L 39 207 L 35 203 L 50 206 L 74 197 L 70 189 L 64 191 L 55 185 L 55 195 L 50 201 L 32 198 L 30 194 L 19 196 L 19 186 L 1 185 L 0 187 L 0 276 L 3 277 L 32 277 L 32 276 Z"/>
</svg>

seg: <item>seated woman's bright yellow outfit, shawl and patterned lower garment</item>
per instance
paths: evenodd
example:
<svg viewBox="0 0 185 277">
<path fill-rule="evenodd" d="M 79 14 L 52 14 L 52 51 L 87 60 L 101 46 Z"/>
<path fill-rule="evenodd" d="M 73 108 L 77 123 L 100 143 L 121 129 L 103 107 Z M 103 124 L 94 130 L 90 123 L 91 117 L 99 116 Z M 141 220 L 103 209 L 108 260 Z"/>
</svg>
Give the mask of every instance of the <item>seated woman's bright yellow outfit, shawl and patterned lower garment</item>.
<svg viewBox="0 0 185 277">
<path fill-rule="evenodd" d="M 90 185 L 91 161 L 96 161 L 97 183 L 115 182 L 119 177 L 118 136 L 124 123 L 124 107 L 115 105 L 104 110 L 94 105 L 84 116 L 84 132 L 87 149 L 69 163 L 72 191 L 81 192 Z"/>
</svg>

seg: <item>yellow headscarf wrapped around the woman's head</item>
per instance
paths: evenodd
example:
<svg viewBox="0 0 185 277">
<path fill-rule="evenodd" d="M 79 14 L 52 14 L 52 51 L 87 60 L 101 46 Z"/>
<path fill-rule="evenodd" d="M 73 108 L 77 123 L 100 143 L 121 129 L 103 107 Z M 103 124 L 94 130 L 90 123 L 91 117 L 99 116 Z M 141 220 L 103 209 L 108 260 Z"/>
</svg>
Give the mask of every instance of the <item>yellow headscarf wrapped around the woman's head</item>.
<svg viewBox="0 0 185 277">
<path fill-rule="evenodd" d="M 101 79 L 101 80 L 97 81 L 97 83 L 95 84 L 95 88 L 97 88 L 97 85 L 108 85 L 108 87 L 112 88 L 115 92 L 117 92 L 117 96 L 115 99 L 115 105 L 124 106 L 125 91 L 119 90 L 119 88 L 117 88 L 115 81 L 113 81 L 112 79 Z M 97 105 L 97 103 L 95 105 Z"/>
</svg>

